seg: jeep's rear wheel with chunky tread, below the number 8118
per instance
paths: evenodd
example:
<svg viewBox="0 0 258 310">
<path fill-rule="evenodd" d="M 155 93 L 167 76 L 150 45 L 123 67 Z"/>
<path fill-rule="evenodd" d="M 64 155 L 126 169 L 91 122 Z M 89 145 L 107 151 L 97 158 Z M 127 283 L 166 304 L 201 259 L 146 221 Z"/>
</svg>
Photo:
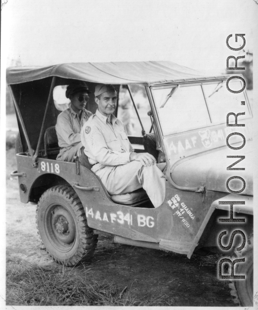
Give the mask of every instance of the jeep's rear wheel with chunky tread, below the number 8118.
<svg viewBox="0 0 258 310">
<path fill-rule="evenodd" d="M 42 194 L 36 223 L 47 253 L 57 263 L 74 266 L 93 255 L 98 235 L 87 225 L 84 208 L 71 186 L 54 186 Z"/>
</svg>

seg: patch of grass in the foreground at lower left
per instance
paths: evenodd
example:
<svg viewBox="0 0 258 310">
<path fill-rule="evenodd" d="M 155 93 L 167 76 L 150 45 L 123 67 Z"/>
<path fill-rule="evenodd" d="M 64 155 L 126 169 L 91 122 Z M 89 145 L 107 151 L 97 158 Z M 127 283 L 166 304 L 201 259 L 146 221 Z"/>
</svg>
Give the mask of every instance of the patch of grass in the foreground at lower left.
<svg viewBox="0 0 258 310">
<path fill-rule="evenodd" d="M 19 258 L 9 261 L 6 275 L 7 305 L 33 306 L 173 306 L 174 299 L 160 296 L 138 300 L 107 280 L 91 278 L 90 269 L 40 267 Z M 122 293 L 122 294 L 121 294 Z"/>
</svg>

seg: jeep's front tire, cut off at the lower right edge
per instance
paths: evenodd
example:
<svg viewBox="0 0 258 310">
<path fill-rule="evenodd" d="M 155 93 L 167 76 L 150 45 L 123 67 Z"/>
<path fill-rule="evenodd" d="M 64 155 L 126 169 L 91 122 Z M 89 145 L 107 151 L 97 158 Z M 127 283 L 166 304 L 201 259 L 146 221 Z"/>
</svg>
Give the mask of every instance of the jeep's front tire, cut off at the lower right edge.
<svg viewBox="0 0 258 310">
<path fill-rule="evenodd" d="M 245 248 L 241 254 L 245 262 L 236 264 L 234 274 L 245 275 L 244 280 L 235 281 L 235 287 L 242 305 L 248 307 L 253 305 L 253 236 L 248 239 Z"/>
</svg>

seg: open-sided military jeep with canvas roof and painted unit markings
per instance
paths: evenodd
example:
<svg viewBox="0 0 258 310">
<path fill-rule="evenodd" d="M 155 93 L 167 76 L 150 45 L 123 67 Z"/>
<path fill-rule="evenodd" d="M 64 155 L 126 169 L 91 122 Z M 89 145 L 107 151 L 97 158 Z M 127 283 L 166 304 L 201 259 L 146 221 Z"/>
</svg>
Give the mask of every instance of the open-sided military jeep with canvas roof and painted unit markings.
<svg viewBox="0 0 258 310">
<path fill-rule="evenodd" d="M 244 262 L 235 261 L 235 268 L 231 264 L 231 275 L 245 275 L 245 279 L 234 280 L 234 285 L 241 303 L 252 305 L 252 175 L 247 165 L 250 160 L 236 163 L 234 159 L 250 156 L 252 113 L 246 91 L 228 91 L 229 77 L 207 76 L 169 61 L 7 69 L 19 126 L 17 170 L 11 175 L 18 177 L 20 200 L 37 205 L 38 234 L 57 263 L 74 266 L 89 259 L 98 234 L 106 233 L 113 234 L 117 243 L 172 251 L 189 259 L 193 253 L 245 258 Z M 92 93 L 86 108 L 92 113 L 97 108 L 94 88 L 98 83 L 116 87 L 118 117 L 123 112 L 121 94 L 127 92 L 135 114 L 134 121 L 132 117 L 127 121 L 131 125 L 138 122 L 138 127 L 128 132 L 135 152 L 147 150 L 146 141 L 152 138 L 158 162 L 166 163 L 166 196 L 160 207 L 153 207 L 143 189 L 109 195 L 101 180 L 82 166 L 78 157 L 74 162 L 56 160 L 59 146 L 55 124 L 60 111 L 53 90 L 57 86 L 65 90 L 74 79 L 89 85 Z M 147 104 L 135 102 L 137 87 Z M 231 80 L 230 88 L 242 89 L 241 80 Z M 226 120 L 228 113 L 232 115 Z M 242 136 L 230 135 L 236 131 L 232 125 L 236 123 L 234 113 L 241 113 L 237 122 L 245 124 L 237 130 Z M 126 117 L 130 115 L 124 115 L 124 122 Z M 243 152 L 234 153 L 244 143 Z M 231 170 L 239 170 L 239 178 L 232 178 L 236 172 Z M 221 221 L 232 216 L 244 222 Z M 246 240 L 235 233 L 239 229 Z M 236 234 L 234 242 L 232 233 Z"/>
</svg>

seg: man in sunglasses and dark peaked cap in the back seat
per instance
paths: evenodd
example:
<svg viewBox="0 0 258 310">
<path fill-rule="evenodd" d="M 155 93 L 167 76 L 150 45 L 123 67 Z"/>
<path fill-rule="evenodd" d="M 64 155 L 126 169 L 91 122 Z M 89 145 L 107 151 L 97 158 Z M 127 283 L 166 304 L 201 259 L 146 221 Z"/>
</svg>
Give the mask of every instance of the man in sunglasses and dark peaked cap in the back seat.
<svg viewBox="0 0 258 310">
<path fill-rule="evenodd" d="M 57 160 L 72 162 L 73 157 L 81 152 L 81 128 L 92 115 L 85 109 L 90 93 L 84 81 L 74 81 L 67 87 L 65 95 L 71 100 L 71 105 L 58 115 L 55 126 L 61 148 Z"/>
</svg>

